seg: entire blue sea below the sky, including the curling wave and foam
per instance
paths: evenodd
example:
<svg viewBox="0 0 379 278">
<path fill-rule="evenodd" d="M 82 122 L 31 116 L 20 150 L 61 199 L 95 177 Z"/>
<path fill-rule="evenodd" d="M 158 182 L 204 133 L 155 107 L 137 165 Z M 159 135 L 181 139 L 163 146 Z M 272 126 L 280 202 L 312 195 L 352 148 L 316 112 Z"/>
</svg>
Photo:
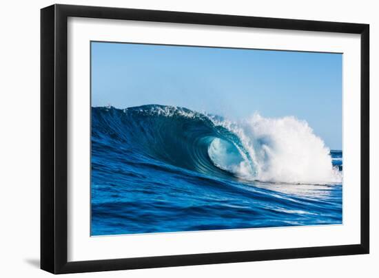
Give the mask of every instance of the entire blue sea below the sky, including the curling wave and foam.
<svg viewBox="0 0 379 278">
<path fill-rule="evenodd" d="M 283 123 L 318 142 L 291 118 L 253 122 L 254 137 L 185 108 L 92 107 L 91 235 L 341 224 L 342 151 L 286 158 Z M 307 152 L 314 171 L 289 171 Z"/>
</svg>

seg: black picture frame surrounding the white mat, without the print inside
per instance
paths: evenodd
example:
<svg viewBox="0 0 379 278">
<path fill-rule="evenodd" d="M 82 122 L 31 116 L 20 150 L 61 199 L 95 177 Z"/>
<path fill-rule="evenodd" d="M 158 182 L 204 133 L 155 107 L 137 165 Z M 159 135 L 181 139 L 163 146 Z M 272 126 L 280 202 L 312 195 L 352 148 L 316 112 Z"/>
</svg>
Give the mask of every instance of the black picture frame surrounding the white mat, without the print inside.
<svg viewBox="0 0 379 278">
<path fill-rule="evenodd" d="M 68 262 L 68 17 L 360 34 L 360 244 Z M 53 5 L 41 9 L 41 269 L 52 273 L 369 253 L 369 25 Z"/>
</svg>

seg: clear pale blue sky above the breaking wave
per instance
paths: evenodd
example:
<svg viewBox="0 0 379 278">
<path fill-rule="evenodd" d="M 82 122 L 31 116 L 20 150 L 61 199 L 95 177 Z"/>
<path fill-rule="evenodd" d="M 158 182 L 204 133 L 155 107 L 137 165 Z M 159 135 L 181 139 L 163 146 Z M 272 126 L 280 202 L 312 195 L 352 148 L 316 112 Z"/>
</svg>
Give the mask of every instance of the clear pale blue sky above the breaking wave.
<svg viewBox="0 0 379 278">
<path fill-rule="evenodd" d="M 92 106 L 307 120 L 342 149 L 342 54 L 92 42 Z"/>
</svg>

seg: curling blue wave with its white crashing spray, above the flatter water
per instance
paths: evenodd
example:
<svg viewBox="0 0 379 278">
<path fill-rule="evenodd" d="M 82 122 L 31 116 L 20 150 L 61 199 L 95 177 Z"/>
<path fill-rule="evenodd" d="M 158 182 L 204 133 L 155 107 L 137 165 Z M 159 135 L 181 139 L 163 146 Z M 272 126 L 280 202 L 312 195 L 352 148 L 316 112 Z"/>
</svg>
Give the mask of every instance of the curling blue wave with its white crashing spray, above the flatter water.
<svg viewBox="0 0 379 278">
<path fill-rule="evenodd" d="M 254 114 L 233 122 L 183 107 L 93 107 L 92 125 L 95 138 L 122 142 L 152 160 L 216 178 L 342 182 L 322 139 L 292 116 Z"/>
</svg>

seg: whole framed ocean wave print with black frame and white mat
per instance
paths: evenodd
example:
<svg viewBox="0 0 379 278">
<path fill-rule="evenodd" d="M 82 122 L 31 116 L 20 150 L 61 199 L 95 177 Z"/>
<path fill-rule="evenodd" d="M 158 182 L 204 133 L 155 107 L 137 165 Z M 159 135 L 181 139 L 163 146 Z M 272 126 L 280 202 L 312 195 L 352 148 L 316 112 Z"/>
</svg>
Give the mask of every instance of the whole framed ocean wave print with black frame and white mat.
<svg viewBox="0 0 379 278">
<path fill-rule="evenodd" d="M 41 268 L 369 253 L 369 25 L 41 10 Z"/>
</svg>

